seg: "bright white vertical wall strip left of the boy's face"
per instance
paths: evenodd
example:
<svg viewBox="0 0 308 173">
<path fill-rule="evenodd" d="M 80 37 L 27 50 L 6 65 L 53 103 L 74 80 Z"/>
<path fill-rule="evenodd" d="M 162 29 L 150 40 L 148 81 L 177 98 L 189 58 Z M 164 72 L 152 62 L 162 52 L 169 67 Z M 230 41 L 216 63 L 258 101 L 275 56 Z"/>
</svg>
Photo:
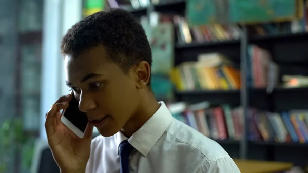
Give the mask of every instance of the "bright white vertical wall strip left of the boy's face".
<svg viewBox="0 0 308 173">
<path fill-rule="evenodd" d="M 46 139 L 45 113 L 61 96 L 68 94 L 65 84 L 64 64 L 60 54 L 61 38 L 76 22 L 81 20 L 81 0 L 46 0 L 43 23 L 43 63 L 41 89 L 40 137 Z"/>
</svg>

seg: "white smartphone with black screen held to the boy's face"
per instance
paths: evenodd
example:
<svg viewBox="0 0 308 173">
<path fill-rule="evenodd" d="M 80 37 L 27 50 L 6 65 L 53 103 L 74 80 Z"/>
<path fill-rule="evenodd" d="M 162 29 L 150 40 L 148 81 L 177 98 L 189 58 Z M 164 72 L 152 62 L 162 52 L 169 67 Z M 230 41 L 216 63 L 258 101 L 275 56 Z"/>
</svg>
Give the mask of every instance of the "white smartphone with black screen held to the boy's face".
<svg viewBox="0 0 308 173">
<path fill-rule="evenodd" d="M 69 102 L 69 107 L 62 111 L 60 121 L 76 136 L 83 138 L 88 125 L 88 118 L 84 112 L 79 110 L 78 101 L 73 92 L 71 94 L 72 100 Z"/>
</svg>

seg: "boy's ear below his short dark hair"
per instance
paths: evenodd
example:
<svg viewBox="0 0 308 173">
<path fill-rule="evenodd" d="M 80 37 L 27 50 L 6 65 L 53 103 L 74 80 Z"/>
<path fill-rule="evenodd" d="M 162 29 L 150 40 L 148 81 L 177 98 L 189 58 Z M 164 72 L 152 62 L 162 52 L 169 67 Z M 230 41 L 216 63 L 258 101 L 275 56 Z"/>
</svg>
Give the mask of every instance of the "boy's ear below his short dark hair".
<svg viewBox="0 0 308 173">
<path fill-rule="evenodd" d="M 136 65 L 136 88 L 143 89 L 147 86 L 151 76 L 151 67 L 148 62 L 141 61 Z"/>
</svg>

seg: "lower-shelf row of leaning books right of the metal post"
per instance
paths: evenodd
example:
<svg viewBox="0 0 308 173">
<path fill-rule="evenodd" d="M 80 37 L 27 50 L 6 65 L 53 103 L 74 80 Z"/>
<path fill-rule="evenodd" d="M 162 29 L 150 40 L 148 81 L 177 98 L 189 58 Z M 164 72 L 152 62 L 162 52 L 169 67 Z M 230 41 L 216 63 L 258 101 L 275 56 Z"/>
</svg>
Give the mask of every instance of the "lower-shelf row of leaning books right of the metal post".
<svg viewBox="0 0 308 173">
<path fill-rule="evenodd" d="M 273 113 L 251 109 L 249 139 L 308 143 L 308 110 Z"/>
</svg>

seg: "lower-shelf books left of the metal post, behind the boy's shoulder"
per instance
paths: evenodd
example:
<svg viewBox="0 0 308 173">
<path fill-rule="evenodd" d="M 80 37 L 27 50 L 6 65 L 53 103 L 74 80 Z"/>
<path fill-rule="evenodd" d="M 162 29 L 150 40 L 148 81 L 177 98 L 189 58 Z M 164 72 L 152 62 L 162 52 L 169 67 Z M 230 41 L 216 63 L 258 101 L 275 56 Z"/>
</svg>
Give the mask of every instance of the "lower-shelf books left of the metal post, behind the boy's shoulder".
<svg viewBox="0 0 308 173">
<path fill-rule="evenodd" d="M 225 104 L 210 107 L 209 102 L 188 105 L 183 102 L 168 105 L 179 121 L 214 140 L 240 140 L 243 128 L 243 109 Z"/>
</svg>

